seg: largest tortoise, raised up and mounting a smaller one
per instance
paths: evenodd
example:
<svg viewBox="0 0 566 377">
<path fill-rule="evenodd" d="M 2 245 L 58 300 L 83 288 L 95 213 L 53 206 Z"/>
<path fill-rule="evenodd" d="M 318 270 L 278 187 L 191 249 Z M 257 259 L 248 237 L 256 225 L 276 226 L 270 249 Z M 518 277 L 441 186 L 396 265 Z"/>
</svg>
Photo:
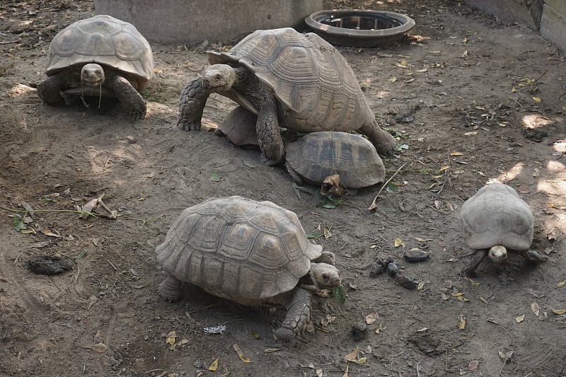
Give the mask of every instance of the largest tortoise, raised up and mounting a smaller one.
<svg viewBox="0 0 566 377">
<path fill-rule="evenodd" d="M 229 52 L 207 54 L 212 65 L 181 93 L 181 129 L 200 129 L 207 98 L 219 93 L 258 116 L 262 161 L 269 165 L 284 158 L 279 126 L 303 133 L 355 129 L 379 153 L 395 151 L 346 59 L 315 33 L 256 30 Z"/>
</svg>

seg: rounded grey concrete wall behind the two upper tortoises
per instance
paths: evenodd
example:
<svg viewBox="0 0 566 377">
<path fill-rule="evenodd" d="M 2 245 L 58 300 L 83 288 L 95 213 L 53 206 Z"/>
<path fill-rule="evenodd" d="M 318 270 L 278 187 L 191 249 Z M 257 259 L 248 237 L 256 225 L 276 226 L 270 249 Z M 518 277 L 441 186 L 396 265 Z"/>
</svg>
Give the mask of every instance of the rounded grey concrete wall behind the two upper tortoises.
<svg viewBox="0 0 566 377">
<path fill-rule="evenodd" d="M 323 0 L 95 0 L 96 14 L 136 26 L 151 42 L 232 40 L 257 29 L 304 28 Z"/>
</svg>

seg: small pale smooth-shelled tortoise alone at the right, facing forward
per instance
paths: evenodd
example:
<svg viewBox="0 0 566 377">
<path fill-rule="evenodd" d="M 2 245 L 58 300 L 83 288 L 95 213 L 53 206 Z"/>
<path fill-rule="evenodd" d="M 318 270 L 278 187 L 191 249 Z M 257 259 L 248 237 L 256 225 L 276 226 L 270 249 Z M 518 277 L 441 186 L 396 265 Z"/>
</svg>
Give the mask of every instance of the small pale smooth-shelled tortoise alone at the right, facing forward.
<svg viewBox="0 0 566 377">
<path fill-rule="evenodd" d="M 491 182 L 480 188 L 462 205 L 460 221 L 466 243 L 477 249 L 465 269 L 468 275 L 486 255 L 498 264 L 507 260 L 507 248 L 521 253 L 528 262 L 542 260 L 539 253 L 529 250 L 534 226 L 529 204 L 508 185 Z"/>
</svg>

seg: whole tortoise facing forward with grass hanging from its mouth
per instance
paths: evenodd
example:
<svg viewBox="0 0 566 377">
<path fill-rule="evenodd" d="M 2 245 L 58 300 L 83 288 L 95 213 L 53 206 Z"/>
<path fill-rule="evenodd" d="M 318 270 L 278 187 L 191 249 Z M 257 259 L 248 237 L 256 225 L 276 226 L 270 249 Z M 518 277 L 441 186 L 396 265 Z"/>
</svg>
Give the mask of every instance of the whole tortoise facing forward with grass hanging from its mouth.
<svg viewBox="0 0 566 377">
<path fill-rule="evenodd" d="M 47 79 L 37 95 L 48 105 L 64 96 L 116 97 L 131 120 L 144 119 L 144 90 L 154 74 L 151 47 L 134 25 L 99 15 L 71 23 L 50 43 Z"/>
</svg>

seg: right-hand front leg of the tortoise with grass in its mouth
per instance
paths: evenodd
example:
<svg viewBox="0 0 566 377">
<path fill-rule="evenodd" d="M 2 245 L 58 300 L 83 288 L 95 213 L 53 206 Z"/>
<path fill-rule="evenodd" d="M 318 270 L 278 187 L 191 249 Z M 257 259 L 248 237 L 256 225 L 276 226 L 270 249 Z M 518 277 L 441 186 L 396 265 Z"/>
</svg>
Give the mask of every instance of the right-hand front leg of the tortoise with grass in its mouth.
<svg viewBox="0 0 566 377">
<path fill-rule="evenodd" d="M 128 79 L 110 73 L 106 76 L 105 86 L 115 93 L 118 102 L 120 102 L 120 107 L 129 120 L 141 120 L 146 117 L 146 101 Z"/>
</svg>

